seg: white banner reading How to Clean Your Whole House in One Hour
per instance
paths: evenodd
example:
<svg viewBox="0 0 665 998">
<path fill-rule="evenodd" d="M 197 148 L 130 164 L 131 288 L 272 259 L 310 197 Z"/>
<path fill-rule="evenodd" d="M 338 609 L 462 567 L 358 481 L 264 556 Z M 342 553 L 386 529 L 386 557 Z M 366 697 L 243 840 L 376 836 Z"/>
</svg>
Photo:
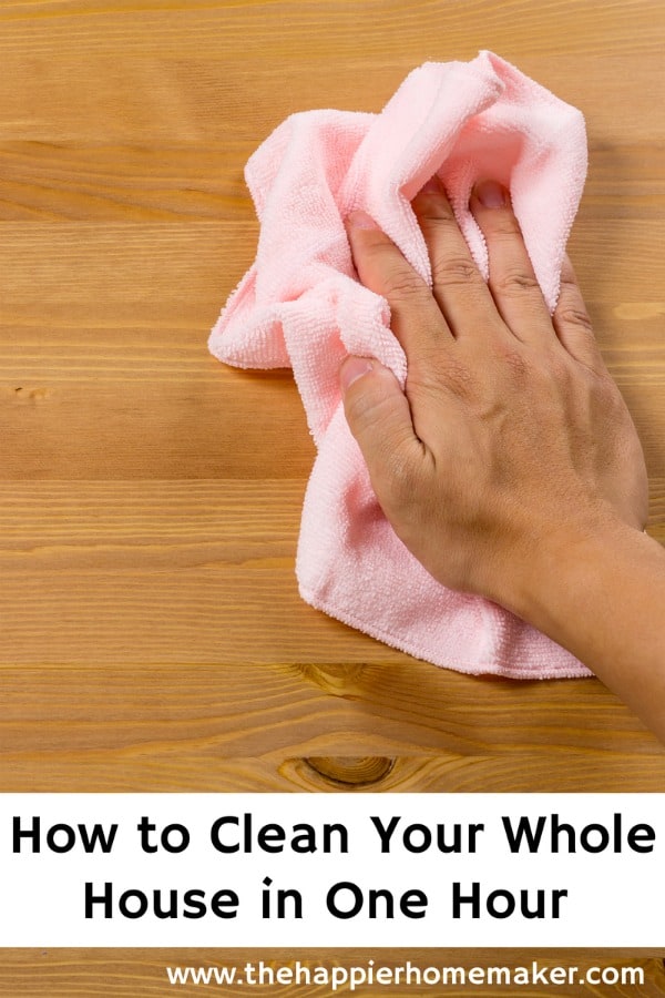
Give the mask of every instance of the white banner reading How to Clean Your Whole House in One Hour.
<svg viewBox="0 0 665 998">
<path fill-rule="evenodd" d="M 4 794 L 1 946 L 663 947 L 665 794 Z"/>
</svg>

